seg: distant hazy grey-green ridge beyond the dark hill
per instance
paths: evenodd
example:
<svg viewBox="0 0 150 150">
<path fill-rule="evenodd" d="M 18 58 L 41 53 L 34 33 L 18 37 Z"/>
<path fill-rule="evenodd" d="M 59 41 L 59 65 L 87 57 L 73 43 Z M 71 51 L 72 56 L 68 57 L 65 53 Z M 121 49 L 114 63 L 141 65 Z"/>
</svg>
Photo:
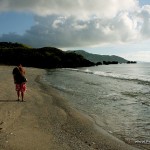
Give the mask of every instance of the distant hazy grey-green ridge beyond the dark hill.
<svg viewBox="0 0 150 150">
<path fill-rule="evenodd" d="M 98 63 L 98 62 L 103 63 L 104 61 L 107 61 L 107 62 L 108 61 L 110 61 L 110 62 L 117 61 L 118 63 L 127 63 L 128 62 L 128 60 L 126 60 L 122 57 L 119 57 L 119 56 L 115 56 L 115 55 L 109 56 L 109 55 L 91 54 L 91 53 L 85 52 L 84 50 L 75 50 L 73 52 L 76 54 L 82 55 L 85 59 L 92 61 L 94 63 Z"/>
</svg>

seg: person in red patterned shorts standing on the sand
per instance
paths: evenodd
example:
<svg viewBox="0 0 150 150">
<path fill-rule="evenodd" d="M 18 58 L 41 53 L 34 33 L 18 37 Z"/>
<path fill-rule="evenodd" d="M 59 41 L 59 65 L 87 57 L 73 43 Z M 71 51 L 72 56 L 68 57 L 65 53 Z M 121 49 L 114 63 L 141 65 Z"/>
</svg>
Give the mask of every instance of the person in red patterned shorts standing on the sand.
<svg viewBox="0 0 150 150">
<path fill-rule="evenodd" d="M 22 102 L 24 101 L 24 93 L 26 91 L 26 82 L 27 79 L 25 78 L 25 70 L 21 64 L 15 67 L 12 71 L 14 84 L 16 85 L 16 91 L 18 96 L 18 101 L 20 101 L 20 96 Z"/>
</svg>

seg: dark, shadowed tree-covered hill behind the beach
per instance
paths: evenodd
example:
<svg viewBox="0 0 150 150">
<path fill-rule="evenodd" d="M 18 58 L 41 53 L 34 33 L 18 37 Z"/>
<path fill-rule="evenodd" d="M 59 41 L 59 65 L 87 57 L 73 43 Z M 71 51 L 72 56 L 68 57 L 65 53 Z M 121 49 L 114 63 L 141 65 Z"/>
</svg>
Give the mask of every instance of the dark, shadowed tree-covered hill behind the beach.
<svg viewBox="0 0 150 150">
<path fill-rule="evenodd" d="M 95 65 L 83 56 L 64 52 L 55 47 L 30 48 L 29 46 L 0 42 L 0 64 L 37 68 L 75 68 Z"/>
</svg>

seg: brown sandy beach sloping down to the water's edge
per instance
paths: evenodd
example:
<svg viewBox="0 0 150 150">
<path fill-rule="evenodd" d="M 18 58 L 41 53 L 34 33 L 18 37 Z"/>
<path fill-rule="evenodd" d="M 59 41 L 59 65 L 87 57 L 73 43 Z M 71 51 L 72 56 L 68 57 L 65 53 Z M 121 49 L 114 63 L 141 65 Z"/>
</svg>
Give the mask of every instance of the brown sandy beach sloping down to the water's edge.
<svg viewBox="0 0 150 150">
<path fill-rule="evenodd" d="M 12 66 L 0 66 L 1 150 L 134 150 L 71 108 L 40 82 L 44 69 L 25 68 L 26 102 L 17 102 Z"/>
</svg>

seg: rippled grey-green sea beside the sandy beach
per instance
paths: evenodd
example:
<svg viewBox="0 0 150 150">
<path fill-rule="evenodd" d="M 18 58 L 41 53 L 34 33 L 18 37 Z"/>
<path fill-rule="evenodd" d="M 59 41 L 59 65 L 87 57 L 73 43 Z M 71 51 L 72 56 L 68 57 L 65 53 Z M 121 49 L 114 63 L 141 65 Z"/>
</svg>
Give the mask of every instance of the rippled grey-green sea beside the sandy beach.
<svg viewBox="0 0 150 150">
<path fill-rule="evenodd" d="M 43 82 L 110 134 L 150 148 L 150 63 L 51 69 Z"/>
</svg>

